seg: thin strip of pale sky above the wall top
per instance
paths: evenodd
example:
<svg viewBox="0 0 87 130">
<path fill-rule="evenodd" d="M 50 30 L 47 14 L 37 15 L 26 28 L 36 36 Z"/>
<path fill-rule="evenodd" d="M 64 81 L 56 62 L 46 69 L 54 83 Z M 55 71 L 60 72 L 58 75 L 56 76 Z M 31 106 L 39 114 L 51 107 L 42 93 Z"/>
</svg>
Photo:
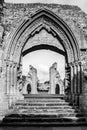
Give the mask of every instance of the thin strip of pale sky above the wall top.
<svg viewBox="0 0 87 130">
<path fill-rule="evenodd" d="M 5 2 L 12 3 L 56 3 L 56 4 L 67 4 L 67 5 L 77 5 L 85 13 L 87 13 L 87 0 L 5 0 Z"/>
</svg>

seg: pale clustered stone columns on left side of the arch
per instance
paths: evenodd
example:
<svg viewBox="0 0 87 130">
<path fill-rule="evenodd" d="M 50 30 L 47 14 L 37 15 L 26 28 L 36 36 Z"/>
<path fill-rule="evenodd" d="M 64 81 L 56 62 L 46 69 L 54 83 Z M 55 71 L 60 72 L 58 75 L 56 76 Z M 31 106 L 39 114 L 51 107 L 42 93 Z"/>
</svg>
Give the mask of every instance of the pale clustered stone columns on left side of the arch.
<svg viewBox="0 0 87 130">
<path fill-rule="evenodd" d="M 17 77 L 17 75 L 16 75 Z M 8 104 L 11 106 L 15 99 L 15 64 L 11 61 L 6 63 L 6 94 L 8 96 Z"/>
</svg>

